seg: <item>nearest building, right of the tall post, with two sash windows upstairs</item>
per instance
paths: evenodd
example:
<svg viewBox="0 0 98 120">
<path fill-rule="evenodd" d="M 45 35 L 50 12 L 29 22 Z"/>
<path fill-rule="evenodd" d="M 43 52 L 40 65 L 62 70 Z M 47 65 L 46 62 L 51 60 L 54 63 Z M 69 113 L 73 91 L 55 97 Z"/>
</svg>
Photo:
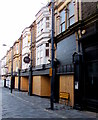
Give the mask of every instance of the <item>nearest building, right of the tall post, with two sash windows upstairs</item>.
<svg viewBox="0 0 98 120">
<path fill-rule="evenodd" d="M 73 0 L 56 1 L 54 10 L 59 93 L 70 94 L 72 107 L 94 110 L 98 106 L 95 94 L 98 84 L 97 67 L 95 67 L 97 66 L 97 4 Z M 90 90 L 92 95 L 88 92 Z"/>
</svg>

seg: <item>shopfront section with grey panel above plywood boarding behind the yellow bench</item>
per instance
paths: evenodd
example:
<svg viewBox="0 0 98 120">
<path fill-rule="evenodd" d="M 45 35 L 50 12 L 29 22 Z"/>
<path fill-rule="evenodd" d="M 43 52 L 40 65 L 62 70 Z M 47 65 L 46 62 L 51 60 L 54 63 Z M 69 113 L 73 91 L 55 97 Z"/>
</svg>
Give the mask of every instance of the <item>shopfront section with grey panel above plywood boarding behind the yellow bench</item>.
<svg viewBox="0 0 98 120">
<path fill-rule="evenodd" d="M 73 54 L 76 52 L 75 33 L 73 31 L 69 31 L 69 34 L 66 34 L 66 31 L 61 33 L 56 37 L 56 44 L 57 44 L 56 57 L 57 60 L 59 61 L 59 64 L 57 65 L 57 75 L 59 77 L 59 93 L 69 94 L 70 106 L 73 107 L 74 105 Z M 66 101 L 65 104 L 67 104 Z"/>
</svg>

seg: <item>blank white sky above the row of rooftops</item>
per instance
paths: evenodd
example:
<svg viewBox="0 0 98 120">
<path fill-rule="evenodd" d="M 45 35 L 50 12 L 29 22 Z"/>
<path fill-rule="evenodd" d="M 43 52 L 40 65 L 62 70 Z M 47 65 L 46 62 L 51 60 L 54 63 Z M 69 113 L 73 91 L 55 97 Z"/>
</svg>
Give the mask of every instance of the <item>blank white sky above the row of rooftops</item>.
<svg viewBox="0 0 98 120">
<path fill-rule="evenodd" d="M 47 0 L 0 0 L 0 60 L 46 4 Z"/>
</svg>

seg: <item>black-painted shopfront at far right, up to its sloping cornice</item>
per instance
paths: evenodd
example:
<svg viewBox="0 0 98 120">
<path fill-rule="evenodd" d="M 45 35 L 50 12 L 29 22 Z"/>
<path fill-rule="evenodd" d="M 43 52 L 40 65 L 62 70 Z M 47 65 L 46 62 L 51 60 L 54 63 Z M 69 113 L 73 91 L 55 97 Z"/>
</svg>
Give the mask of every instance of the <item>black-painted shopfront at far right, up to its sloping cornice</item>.
<svg viewBox="0 0 98 120">
<path fill-rule="evenodd" d="M 75 72 L 77 72 L 77 68 L 80 71 L 77 72 L 79 77 L 75 73 L 75 82 L 79 84 L 78 90 L 75 90 L 75 106 L 98 112 L 97 15 L 91 21 L 84 21 L 82 25 L 81 30 L 85 30 L 85 34 L 83 34 L 79 40 L 82 45 L 82 57 L 79 64 L 75 64 Z"/>
</svg>

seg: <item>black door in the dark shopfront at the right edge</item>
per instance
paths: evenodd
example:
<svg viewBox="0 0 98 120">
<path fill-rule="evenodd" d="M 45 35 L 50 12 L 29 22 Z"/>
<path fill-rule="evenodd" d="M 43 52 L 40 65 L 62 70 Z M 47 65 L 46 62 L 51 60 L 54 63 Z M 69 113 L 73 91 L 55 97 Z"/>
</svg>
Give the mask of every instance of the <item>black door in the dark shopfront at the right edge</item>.
<svg viewBox="0 0 98 120">
<path fill-rule="evenodd" d="M 85 97 L 88 108 L 98 106 L 98 45 L 85 49 Z"/>
</svg>

